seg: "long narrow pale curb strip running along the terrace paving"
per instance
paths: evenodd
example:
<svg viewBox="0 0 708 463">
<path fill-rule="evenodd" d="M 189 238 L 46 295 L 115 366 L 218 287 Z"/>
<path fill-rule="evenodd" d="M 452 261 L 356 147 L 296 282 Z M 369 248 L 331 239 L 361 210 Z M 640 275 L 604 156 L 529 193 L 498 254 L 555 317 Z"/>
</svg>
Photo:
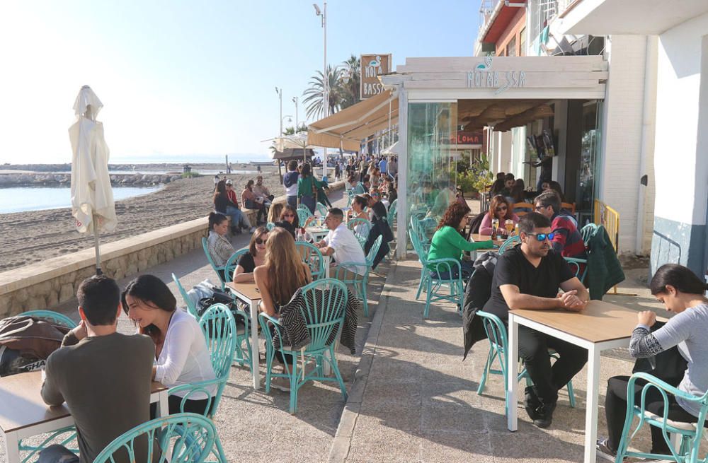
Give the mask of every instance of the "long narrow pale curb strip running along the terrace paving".
<svg viewBox="0 0 708 463">
<path fill-rule="evenodd" d="M 371 365 L 374 361 L 374 355 L 379 343 L 381 324 L 384 320 L 384 315 L 386 315 L 386 310 L 389 305 L 389 293 L 392 280 L 394 279 L 397 269 L 398 266 L 396 261 L 392 261 L 392 266 L 389 269 L 386 276 L 386 281 L 384 282 L 384 288 L 379 295 L 379 303 L 376 307 L 376 313 L 374 314 L 374 318 L 371 320 L 369 333 L 366 336 L 364 348 L 362 349 L 359 366 L 354 374 L 354 382 L 349 392 L 347 403 L 342 411 L 342 416 L 339 419 L 339 426 L 337 426 L 337 432 L 334 435 L 334 440 L 329 449 L 329 458 L 327 459 L 329 463 L 344 463 L 349 455 L 349 448 L 351 445 L 352 435 L 354 433 L 354 427 L 356 426 L 357 419 L 359 418 L 361 403 L 364 399 L 364 392 L 369 379 L 369 372 L 371 370 Z"/>
</svg>

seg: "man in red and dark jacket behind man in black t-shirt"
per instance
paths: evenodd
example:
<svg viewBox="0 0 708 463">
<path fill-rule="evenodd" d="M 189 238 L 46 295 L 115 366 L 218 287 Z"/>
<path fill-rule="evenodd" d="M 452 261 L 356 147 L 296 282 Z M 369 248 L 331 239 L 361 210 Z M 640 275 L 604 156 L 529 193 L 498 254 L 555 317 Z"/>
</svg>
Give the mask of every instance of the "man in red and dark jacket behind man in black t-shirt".
<svg viewBox="0 0 708 463">
<path fill-rule="evenodd" d="M 585 259 L 585 242 L 575 222 L 561 214 L 561 197 L 552 189 L 539 194 L 534 200 L 536 212 L 551 221 L 553 250 L 563 257 Z"/>
</svg>

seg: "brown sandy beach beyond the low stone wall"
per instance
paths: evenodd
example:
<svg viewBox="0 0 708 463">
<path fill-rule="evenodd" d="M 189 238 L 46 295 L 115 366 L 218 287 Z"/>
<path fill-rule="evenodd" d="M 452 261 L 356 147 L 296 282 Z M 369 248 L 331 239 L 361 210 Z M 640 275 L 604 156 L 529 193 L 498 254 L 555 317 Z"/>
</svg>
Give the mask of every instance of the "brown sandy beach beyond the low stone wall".
<svg viewBox="0 0 708 463">
<path fill-rule="evenodd" d="M 256 170 L 249 166 L 251 169 Z M 261 169 L 263 183 L 270 188 L 270 193 L 284 194 L 278 168 Z M 255 180 L 256 174 L 227 175 L 227 178 L 234 181 L 240 204 L 246 181 Z M 112 233 L 102 233 L 101 243 L 206 216 L 213 210 L 213 189 L 214 176 L 205 175 L 176 180 L 158 192 L 118 201 L 115 204 L 118 227 Z M 93 247 L 93 234 L 76 231 L 71 209 L 0 214 L 0 271 L 89 247 Z"/>
</svg>

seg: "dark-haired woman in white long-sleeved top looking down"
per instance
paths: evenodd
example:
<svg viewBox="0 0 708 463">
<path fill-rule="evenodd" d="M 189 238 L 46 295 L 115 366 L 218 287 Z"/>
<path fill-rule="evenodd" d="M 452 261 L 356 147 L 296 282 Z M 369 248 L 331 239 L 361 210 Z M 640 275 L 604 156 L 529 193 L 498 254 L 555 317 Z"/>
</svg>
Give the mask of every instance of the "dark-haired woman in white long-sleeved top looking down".
<svg viewBox="0 0 708 463">
<path fill-rule="evenodd" d="M 177 310 L 177 300 L 165 283 L 154 275 L 141 275 L 128 283 L 121 294 L 123 310 L 155 343 L 152 379 L 166 387 L 215 378 L 207 342 L 197 320 Z M 215 394 L 216 386 L 206 388 Z M 180 405 L 187 392 L 169 397 L 170 414 L 192 411 L 204 414 L 209 397 L 204 392 L 190 394 L 183 410 Z M 154 410 L 151 409 L 154 416 Z"/>
</svg>

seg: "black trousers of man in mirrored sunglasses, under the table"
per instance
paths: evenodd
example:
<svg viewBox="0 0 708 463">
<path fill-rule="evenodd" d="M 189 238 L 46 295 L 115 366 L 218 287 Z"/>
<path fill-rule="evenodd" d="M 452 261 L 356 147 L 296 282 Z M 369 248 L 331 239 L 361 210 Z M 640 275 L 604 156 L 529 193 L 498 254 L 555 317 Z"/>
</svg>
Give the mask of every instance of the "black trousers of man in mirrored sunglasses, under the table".
<svg viewBox="0 0 708 463">
<path fill-rule="evenodd" d="M 558 353 L 559 358 L 553 365 L 548 348 Z M 588 361 L 586 348 L 528 327 L 519 327 L 519 356 L 526 365 L 538 397 L 547 404 L 558 400 L 558 391 L 568 384 Z"/>
</svg>

